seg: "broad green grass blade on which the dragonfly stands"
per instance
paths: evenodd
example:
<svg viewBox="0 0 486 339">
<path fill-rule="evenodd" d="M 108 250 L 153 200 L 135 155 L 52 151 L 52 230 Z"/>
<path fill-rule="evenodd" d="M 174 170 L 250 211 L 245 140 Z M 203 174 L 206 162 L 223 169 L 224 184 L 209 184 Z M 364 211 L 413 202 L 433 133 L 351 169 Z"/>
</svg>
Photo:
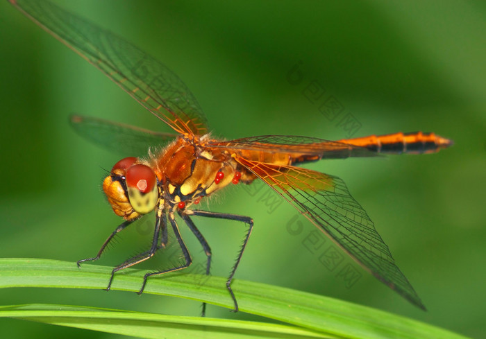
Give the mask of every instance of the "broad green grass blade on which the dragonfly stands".
<svg viewBox="0 0 486 339">
<path fill-rule="evenodd" d="M 106 288 L 112 268 L 47 259 L 0 259 L 1 287 Z M 138 291 L 145 271 L 115 275 L 112 289 Z M 227 308 L 226 279 L 176 273 L 150 279 L 144 293 L 199 300 Z M 437 327 L 365 306 L 288 288 L 233 281 L 240 310 L 340 338 L 464 338 Z M 134 313 L 135 314 L 135 313 Z M 189 318 L 187 318 L 189 319 Z M 199 318 L 198 318 L 199 319 Z M 206 324 L 209 320 L 201 318 Z"/>
</svg>

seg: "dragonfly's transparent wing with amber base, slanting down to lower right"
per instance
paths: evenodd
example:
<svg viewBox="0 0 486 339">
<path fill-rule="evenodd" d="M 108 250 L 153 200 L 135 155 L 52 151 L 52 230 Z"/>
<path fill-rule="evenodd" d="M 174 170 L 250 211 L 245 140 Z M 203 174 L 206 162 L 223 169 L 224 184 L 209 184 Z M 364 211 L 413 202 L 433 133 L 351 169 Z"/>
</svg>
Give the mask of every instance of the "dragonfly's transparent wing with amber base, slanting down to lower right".
<svg viewBox="0 0 486 339">
<path fill-rule="evenodd" d="M 290 202 L 380 281 L 425 309 L 408 279 L 395 265 L 366 211 L 353 199 L 340 178 L 241 157 L 235 160 Z"/>
</svg>

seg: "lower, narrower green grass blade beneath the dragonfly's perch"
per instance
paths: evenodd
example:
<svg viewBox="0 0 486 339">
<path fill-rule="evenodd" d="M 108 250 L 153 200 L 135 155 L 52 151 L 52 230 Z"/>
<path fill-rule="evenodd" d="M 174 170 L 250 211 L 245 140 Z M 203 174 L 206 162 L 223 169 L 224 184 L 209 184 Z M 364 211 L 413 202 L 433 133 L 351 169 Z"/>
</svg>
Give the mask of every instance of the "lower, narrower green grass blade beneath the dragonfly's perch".
<svg viewBox="0 0 486 339">
<path fill-rule="evenodd" d="M 297 327 L 259 322 L 242 322 L 200 317 L 88 308 L 65 305 L 29 304 L 3 306 L 0 317 L 17 318 L 136 336 L 139 338 L 330 338 Z"/>
</svg>

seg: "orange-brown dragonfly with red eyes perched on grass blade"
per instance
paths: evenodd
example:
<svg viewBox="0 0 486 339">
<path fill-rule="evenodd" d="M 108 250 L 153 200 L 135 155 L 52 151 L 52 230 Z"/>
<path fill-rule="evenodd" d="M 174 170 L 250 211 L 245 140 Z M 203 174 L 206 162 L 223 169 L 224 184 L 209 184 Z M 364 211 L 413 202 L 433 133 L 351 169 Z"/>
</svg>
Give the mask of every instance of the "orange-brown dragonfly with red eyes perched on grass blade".
<svg viewBox="0 0 486 339">
<path fill-rule="evenodd" d="M 106 290 L 110 289 L 116 272 L 145 261 L 165 248 L 169 228 L 176 237 L 184 261 L 166 270 L 146 273 L 138 293 L 143 292 L 150 277 L 189 267 L 192 257 L 179 231 L 181 220 L 201 243 L 207 257 L 206 275 L 209 275 L 211 248 L 193 217 L 224 219 L 246 225 L 242 247 L 226 280 L 233 311 L 238 311 L 231 282 L 249 241 L 253 219 L 196 209 L 196 206 L 226 186 L 260 180 L 383 284 L 415 306 L 426 309 L 346 184 L 339 177 L 299 166 L 321 159 L 435 153 L 451 146 L 451 140 L 431 132 L 399 132 L 338 141 L 290 135 L 263 135 L 230 141 L 213 139 L 206 115 L 196 98 L 162 62 L 114 33 L 49 1 L 9 1 L 171 128 L 171 132 L 153 132 L 98 118 L 72 117 L 76 131 L 110 149 L 119 150 L 124 145 L 131 149 L 150 144 L 160 147 L 146 157 L 121 159 L 103 181 L 108 202 L 124 221 L 108 236 L 95 257 L 78 261 L 78 266 L 99 259 L 115 235 L 135 220 L 151 213 L 156 216 L 151 247 L 113 268 Z M 205 312 L 206 304 L 203 304 L 203 315 Z"/>
</svg>

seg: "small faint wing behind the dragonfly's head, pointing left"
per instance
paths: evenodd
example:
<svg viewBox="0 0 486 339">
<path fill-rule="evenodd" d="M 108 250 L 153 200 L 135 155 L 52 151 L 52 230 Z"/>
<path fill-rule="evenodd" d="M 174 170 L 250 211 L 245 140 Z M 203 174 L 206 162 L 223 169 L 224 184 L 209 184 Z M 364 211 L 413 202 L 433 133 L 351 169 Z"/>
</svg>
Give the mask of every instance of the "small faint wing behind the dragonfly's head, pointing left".
<svg viewBox="0 0 486 339">
<path fill-rule="evenodd" d="M 159 148 L 178 137 L 176 133 L 161 133 L 144 130 L 123 123 L 73 115 L 69 122 L 72 128 L 85 139 L 111 152 L 143 157 L 150 147 Z"/>
</svg>

